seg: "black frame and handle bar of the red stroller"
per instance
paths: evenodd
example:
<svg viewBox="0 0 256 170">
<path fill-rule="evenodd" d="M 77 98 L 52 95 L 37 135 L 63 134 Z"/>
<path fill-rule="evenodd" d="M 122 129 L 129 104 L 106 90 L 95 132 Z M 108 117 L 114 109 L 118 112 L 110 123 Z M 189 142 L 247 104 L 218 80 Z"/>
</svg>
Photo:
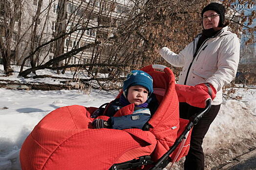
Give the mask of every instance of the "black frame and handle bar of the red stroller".
<svg viewBox="0 0 256 170">
<path fill-rule="evenodd" d="M 204 114 L 208 113 L 211 108 L 211 100 L 206 101 L 206 107 L 200 112 L 193 115 L 189 120 L 183 133 L 175 140 L 174 144 L 171 146 L 169 151 L 165 153 L 157 162 L 150 160 L 150 156 L 141 156 L 138 159 L 133 159 L 124 163 L 114 164 L 109 170 L 131 170 L 134 168 L 139 168 L 143 165 L 153 165 L 150 170 L 163 170 L 170 162 L 170 155 L 178 147 L 183 139 L 186 138 L 186 134 L 190 132 L 192 127 L 198 123 L 198 121 L 203 117 Z"/>
</svg>

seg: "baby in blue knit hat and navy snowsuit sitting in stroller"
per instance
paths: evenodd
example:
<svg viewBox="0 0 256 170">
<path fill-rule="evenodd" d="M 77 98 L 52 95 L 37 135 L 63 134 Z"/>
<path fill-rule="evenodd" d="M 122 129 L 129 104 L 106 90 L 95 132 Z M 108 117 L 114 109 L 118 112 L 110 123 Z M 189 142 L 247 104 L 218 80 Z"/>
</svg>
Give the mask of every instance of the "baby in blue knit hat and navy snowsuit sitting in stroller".
<svg viewBox="0 0 256 170">
<path fill-rule="evenodd" d="M 110 118 L 108 120 L 95 119 L 92 122 L 94 128 L 143 129 L 151 116 L 149 102 L 156 101 L 152 93 L 152 77 L 141 70 L 131 71 L 124 81 L 123 93 L 120 98 L 110 102 L 106 108 L 104 115 Z M 132 114 L 118 113 L 119 109 L 132 103 L 135 104 Z M 154 104 L 154 107 L 156 106 L 157 104 Z"/>
</svg>

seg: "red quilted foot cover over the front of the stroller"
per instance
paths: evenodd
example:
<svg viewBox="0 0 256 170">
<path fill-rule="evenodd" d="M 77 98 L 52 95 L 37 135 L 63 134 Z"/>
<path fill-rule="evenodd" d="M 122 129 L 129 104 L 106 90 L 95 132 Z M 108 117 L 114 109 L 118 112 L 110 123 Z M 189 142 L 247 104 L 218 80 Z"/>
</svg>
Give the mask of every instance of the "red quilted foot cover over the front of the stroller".
<svg viewBox="0 0 256 170">
<path fill-rule="evenodd" d="M 93 110 L 72 105 L 44 117 L 22 145 L 22 170 L 107 170 L 129 150 L 152 153 L 156 140 L 150 132 L 92 129 Z"/>
</svg>

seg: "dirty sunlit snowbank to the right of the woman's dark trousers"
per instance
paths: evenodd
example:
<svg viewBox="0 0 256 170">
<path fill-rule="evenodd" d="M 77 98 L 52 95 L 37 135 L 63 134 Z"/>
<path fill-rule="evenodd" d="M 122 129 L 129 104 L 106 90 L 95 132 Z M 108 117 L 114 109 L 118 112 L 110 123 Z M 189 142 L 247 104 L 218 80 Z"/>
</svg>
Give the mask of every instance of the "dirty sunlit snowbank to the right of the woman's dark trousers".
<svg viewBox="0 0 256 170">
<path fill-rule="evenodd" d="M 229 100 L 223 102 L 218 116 L 205 137 L 204 146 L 211 146 L 208 150 L 211 150 L 213 146 L 216 148 L 219 143 L 224 141 L 234 140 L 234 138 L 256 137 L 256 100 L 255 95 L 247 97 L 249 96 L 252 97 L 252 101 Z"/>
</svg>

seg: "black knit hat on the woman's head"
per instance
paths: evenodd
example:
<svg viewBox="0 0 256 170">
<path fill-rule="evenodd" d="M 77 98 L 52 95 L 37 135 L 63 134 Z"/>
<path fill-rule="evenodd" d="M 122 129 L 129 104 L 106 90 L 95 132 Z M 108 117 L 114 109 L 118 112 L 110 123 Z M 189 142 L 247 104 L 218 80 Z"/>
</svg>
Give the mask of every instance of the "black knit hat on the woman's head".
<svg viewBox="0 0 256 170">
<path fill-rule="evenodd" d="M 225 26 L 226 8 L 221 3 L 213 2 L 213 3 L 210 3 L 209 5 L 207 5 L 206 7 L 204 7 L 204 9 L 201 13 L 201 16 L 203 17 L 204 12 L 209 11 L 209 10 L 213 10 L 220 15 L 218 27 L 224 27 Z"/>
</svg>

